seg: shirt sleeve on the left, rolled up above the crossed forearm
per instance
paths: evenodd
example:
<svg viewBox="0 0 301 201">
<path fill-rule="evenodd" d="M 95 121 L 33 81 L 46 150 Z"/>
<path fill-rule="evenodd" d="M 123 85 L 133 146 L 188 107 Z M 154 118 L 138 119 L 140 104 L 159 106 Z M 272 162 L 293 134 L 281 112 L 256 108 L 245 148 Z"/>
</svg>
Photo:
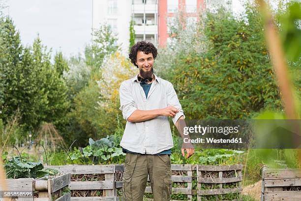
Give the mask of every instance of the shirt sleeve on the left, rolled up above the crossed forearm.
<svg viewBox="0 0 301 201">
<path fill-rule="evenodd" d="M 129 83 L 122 82 L 119 89 L 120 110 L 122 111 L 123 119 L 127 120 L 129 116 L 137 109 L 137 104 L 130 92 Z"/>
</svg>

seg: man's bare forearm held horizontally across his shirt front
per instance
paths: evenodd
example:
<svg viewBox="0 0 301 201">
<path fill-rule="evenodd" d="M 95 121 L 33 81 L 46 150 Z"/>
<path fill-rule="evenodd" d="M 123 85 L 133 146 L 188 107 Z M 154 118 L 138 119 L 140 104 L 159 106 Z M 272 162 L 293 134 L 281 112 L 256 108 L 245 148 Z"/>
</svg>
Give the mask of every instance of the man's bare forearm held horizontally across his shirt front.
<svg viewBox="0 0 301 201">
<path fill-rule="evenodd" d="M 147 121 L 153 118 L 156 118 L 157 116 L 161 115 L 160 109 L 153 109 L 153 110 L 135 110 L 129 118 L 127 118 L 127 121 L 129 122 L 143 122 Z"/>
</svg>

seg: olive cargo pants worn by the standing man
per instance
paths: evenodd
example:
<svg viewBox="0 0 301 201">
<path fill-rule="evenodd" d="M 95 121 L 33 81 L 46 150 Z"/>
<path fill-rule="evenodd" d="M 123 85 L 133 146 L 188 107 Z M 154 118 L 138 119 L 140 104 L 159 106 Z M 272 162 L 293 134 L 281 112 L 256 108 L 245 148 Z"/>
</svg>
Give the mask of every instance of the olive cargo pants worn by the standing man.
<svg viewBox="0 0 301 201">
<path fill-rule="evenodd" d="M 150 174 L 153 201 L 169 201 L 172 189 L 170 156 L 127 153 L 123 173 L 123 201 L 143 201 Z"/>
</svg>

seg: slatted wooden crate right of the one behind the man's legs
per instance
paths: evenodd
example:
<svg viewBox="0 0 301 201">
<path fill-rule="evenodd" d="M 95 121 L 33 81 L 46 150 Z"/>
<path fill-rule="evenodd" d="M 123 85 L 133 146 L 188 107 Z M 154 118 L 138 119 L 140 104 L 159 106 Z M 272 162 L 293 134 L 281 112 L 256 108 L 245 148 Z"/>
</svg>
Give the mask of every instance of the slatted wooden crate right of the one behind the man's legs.
<svg viewBox="0 0 301 201">
<path fill-rule="evenodd" d="M 197 197 L 241 193 L 242 165 L 232 166 L 197 166 Z M 226 184 L 235 185 L 224 188 Z M 205 188 L 205 189 L 204 189 Z M 208 189 L 207 189 L 208 188 Z M 203 190 L 202 190 L 203 189 Z"/>
</svg>

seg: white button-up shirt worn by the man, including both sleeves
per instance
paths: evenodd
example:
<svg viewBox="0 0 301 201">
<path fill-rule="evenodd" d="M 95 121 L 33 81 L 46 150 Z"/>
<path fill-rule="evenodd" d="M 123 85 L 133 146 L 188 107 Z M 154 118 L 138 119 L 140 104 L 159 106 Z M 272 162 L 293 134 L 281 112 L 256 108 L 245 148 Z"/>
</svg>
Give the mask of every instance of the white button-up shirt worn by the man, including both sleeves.
<svg viewBox="0 0 301 201">
<path fill-rule="evenodd" d="M 172 118 L 174 124 L 184 116 L 176 91 L 167 80 L 155 76 L 151 83 L 148 98 L 138 81 L 138 75 L 125 80 L 120 85 L 120 110 L 123 118 L 127 118 L 136 110 L 162 109 L 167 106 L 176 107 L 179 112 Z M 126 121 L 120 146 L 131 152 L 141 154 L 157 154 L 174 146 L 168 117 L 158 116 L 144 122 Z"/>
</svg>

